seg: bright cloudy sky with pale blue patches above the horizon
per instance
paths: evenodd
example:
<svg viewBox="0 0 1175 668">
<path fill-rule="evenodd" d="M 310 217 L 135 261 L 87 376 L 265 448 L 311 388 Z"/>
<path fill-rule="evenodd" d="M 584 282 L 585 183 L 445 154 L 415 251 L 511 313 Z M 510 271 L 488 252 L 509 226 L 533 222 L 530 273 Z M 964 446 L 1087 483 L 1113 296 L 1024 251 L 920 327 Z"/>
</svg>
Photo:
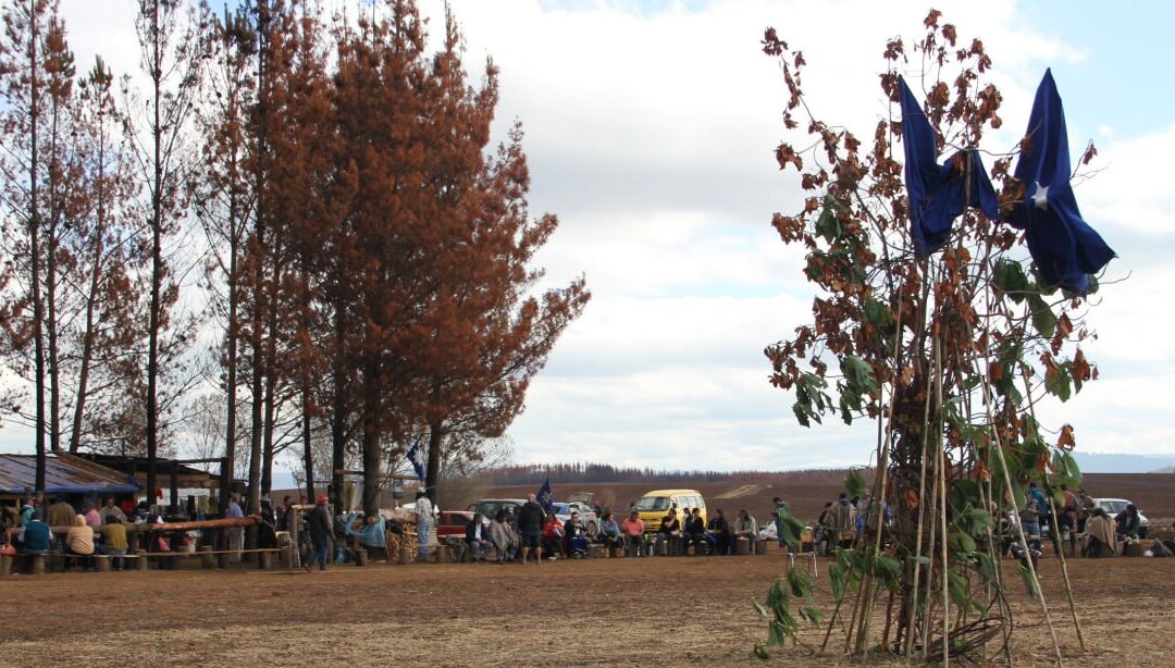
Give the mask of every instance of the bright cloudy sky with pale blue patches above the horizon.
<svg viewBox="0 0 1175 668">
<path fill-rule="evenodd" d="M 350 2 L 354 7 L 355 4 Z M 817 116 L 871 136 L 887 103 L 877 74 L 888 38 L 921 35 L 928 5 L 875 1 L 450 0 L 471 72 L 501 68 L 498 136 L 526 131 L 532 211 L 562 224 L 538 261 L 553 284 L 593 292 L 535 380 L 510 436 L 521 461 L 667 468 L 795 468 L 868 461 L 873 425 L 807 430 L 767 384 L 765 345 L 810 317 L 801 254 L 773 211 L 803 202 L 773 148 L 784 86 L 759 52 L 774 26 L 805 53 Z M 62 0 L 81 62 L 134 66 L 128 0 Z M 1175 46 L 1168 2 L 935 2 L 960 36 L 982 38 L 1000 86 L 1006 151 L 1052 67 L 1074 151 L 1093 140 L 1095 178 L 1077 189 L 1117 251 L 1086 346 L 1101 380 L 1045 411 L 1082 450 L 1175 461 Z M 422 1 L 429 14 L 439 1 Z M 439 23 L 434 23 L 437 29 Z M 122 55 L 119 55 L 122 54 Z M 916 61 L 908 74 L 916 75 Z"/>
</svg>

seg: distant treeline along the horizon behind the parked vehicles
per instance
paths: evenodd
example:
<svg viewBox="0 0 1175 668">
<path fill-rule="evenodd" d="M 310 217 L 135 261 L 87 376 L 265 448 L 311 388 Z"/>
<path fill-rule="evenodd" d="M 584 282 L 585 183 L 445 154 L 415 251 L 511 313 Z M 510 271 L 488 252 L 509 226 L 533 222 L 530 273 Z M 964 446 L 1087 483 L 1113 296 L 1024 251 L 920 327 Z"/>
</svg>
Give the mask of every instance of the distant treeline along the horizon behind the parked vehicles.
<svg viewBox="0 0 1175 668">
<path fill-rule="evenodd" d="M 573 464 L 513 464 L 486 472 L 491 485 L 542 485 L 556 483 L 764 483 L 844 475 L 842 468 L 804 471 L 658 471 L 636 466 L 612 466 L 590 461 Z"/>
</svg>

